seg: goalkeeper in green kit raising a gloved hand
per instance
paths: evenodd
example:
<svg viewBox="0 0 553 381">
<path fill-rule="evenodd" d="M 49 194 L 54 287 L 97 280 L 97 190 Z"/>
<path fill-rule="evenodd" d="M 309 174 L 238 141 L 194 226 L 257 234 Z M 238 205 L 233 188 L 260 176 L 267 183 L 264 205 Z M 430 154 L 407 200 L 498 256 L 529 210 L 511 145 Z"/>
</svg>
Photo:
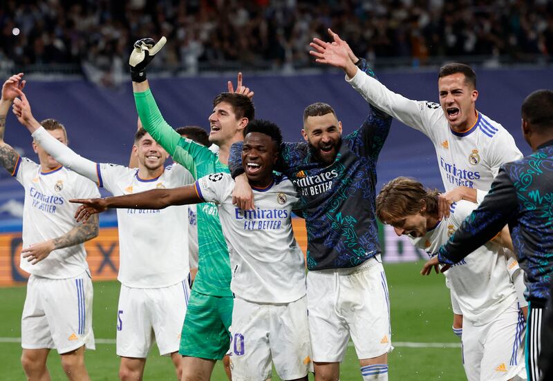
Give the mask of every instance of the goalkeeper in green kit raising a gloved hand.
<svg viewBox="0 0 553 381">
<path fill-rule="evenodd" d="M 211 173 L 229 173 L 230 146 L 243 141 L 243 130 L 254 119 L 251 101 L 254 93 L 242 86 L 239 74 L 236 91 L 229 82 L 229 92 L 215 97 L 213 113 L 209 115 L 209 141 L 219 147 L 218 153 L 181 137 L 163 119 L 146 79 L 146 66 L 166 41 L 165 37 L 158 43 L 140 39 L 135 42 L 129 59 L 142 126 L 194 179 Z M 216 360 L 223 359 L 229 349 L 233 306 L 229 255 L 215 204 L 198 204 L 198 246 L 198 274 L 182 326 L 179 353 L 184 356 L 182 380 L 207 381 Z"/>
</svg>

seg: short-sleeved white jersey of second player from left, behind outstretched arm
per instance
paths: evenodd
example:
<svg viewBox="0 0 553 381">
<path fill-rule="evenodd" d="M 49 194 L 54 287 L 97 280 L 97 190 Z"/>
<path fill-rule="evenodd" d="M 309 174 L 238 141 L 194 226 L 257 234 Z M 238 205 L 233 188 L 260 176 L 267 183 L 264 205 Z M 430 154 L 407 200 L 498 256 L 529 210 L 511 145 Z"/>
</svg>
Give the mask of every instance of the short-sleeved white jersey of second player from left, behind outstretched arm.
<svg viewBox="0 0 553 381">
<path fill-rule="evenodd" d="M 192 184 L 182 166 L 167 166 L 160 177 L 140 179 L 138 169 L 97 164 L 98 184 L 114 196 Z M 118 209 L 119 275 L 127 287 L 153 289 L 184 280 L 189 274 L 188 206 L 161 210 Z"/>
</svg>

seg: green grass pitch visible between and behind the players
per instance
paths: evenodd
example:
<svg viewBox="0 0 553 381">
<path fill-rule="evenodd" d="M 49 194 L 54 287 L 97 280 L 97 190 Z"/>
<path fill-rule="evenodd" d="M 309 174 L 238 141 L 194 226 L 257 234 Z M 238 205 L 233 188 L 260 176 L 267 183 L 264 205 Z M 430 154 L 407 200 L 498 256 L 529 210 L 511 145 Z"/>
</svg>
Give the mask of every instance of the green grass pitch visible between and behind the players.
<svg viewBox="0 0 553 381">
<path fill-rule="evenodd" d="M 419 275 L 422 262 L 385 265 L 391 299 L 392 343 L 459 343 L 451 331 L 449 292 L 442 275 Z M 115 339 L 118 282 L 94 283 L 93 326 L 97 339 Z M 24 380 L 19 358 L 21 345 L 9 342 L 21 337 L 21 311 L 25 288 L 0 289 L 0 369 L 1 380 Z M 370 329 L 370 327 L 368 327 Z M 350 343 L 351 344 L 351 343 Z M 396 346 L 389 358 L 390 380 L 466 380 L 460 348 L 412 348 Z M 86 352 L 86 366 L 92 380 L 117 380 L 119 358 L 115 344 L 96 343 L 95 351 Z M 59 355 L 50 353 L 48 367 L 52 380 L 65 380 Z M 280 380 L 273 372 L 273 380 Z M 312 377 L 310 377 L 310 380 Z M 341 364 L 341 380 L 362 380 L 355 349 L 348 347 Z M 146 364 L 144 380 L 176 380 L 169 358 L 161 358 L 153 347 Z M 217 364 L 214 381 L 227 380 L 223 367 Z"/>
</svg>

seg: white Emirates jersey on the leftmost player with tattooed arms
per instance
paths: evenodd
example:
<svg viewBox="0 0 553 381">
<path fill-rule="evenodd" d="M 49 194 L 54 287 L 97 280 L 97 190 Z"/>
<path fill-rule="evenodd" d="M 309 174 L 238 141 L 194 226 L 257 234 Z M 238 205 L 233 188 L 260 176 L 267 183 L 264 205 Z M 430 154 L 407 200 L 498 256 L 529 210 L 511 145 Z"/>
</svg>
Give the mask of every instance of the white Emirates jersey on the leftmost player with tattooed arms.
<svg viewBox="0 0 553 381">
<path fill-rule="evenodd" d="M 65 167 L 41 172 L 39 164 L 19 157 L 13 176 L 25 188 L 23 208 L 23 248 L 60 237 L 77 226 L 79 204 L 69 199 L 100 197 L 91 180 Z M 32 275 L 66 279 L 88 271 L 84 244 L 52 251 L 37 264 L 21 256 L 19 266 Z"/>
</svg>

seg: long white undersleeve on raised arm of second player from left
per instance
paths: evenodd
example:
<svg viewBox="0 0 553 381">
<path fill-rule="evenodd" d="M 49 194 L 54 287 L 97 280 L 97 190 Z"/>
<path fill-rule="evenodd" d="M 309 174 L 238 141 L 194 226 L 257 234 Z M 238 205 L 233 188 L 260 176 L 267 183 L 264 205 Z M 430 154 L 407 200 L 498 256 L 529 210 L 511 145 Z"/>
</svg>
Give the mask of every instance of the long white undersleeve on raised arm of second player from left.
<svg viewBox="0 0 553 381">
<path fill-rule="evenodd" d="M 96 163 L 77 155 L 71 148 L 50 135 L 44 127 L 32 133 L 32 137 L 59 164 L 91 179 L 93 182 L 98 182 Z"/>
</svg>

